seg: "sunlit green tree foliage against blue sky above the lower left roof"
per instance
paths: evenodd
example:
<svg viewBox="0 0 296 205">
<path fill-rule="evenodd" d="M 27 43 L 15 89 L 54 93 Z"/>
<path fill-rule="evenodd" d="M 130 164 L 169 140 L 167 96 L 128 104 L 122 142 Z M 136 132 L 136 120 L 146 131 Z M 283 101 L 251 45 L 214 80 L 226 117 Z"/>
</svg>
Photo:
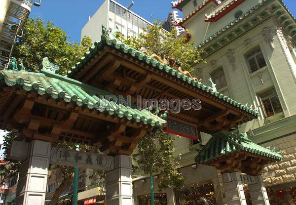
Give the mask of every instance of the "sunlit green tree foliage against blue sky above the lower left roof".
<svg viewBox="0 0 296 205">
<path fill-rule="evenodd" d="M 38 70 L 43 57 L 48 57 L 65 74 L 92 45 L 89 37 L 84 37 L 80 45 L 68 41 L 65 31 L 40 18 L 29 18 L 23 30 L 23 38 L 16 42 L 12 56 L 24 57 L 25 67 L 33 71 Z"/>
</svg>

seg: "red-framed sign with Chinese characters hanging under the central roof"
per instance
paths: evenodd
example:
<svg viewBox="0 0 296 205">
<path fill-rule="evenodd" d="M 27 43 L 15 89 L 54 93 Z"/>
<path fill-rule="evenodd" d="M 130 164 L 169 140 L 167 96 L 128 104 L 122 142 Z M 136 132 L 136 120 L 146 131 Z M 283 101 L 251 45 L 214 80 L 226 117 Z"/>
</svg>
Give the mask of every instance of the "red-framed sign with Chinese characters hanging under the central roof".
<svg viewBox="0 0 296 205">
<path fill-rule="evenodd" d="M 170 116 L 167 117 L 165 132 L 180 135 L 189 139 L 198 140 L 198 131 L 195 124 L 187 123 Z"/>
</svg>

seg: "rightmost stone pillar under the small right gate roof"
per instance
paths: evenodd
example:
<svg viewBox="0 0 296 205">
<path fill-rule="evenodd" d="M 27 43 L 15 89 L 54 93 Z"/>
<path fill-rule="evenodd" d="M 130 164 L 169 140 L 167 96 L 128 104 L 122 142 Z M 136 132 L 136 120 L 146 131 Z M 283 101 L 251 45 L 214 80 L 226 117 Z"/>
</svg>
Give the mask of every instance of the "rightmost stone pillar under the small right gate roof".
<svg viewBox="0 0 296 205">
<path fill-rule="evenodd" d="M 269 205 L 269 200 L 262 176 L 256 176 L 255 179 L 256 183 L 248 185 L 252 205 Z"/>
</svg>

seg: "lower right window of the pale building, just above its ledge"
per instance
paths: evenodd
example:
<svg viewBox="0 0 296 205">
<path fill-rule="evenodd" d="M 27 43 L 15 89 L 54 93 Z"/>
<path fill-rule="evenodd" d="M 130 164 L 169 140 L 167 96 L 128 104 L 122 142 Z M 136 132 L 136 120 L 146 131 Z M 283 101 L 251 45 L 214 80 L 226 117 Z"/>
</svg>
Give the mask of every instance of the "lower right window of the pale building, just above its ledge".
<svg viewBox="0 0 296 205">
<path fill-rule="evenodd" d="M 261 99 L 266 118 L 283 112 L 279 97 L 277 96 L 274 88 L 260 94 L 259 97 Z"/>
</svg>

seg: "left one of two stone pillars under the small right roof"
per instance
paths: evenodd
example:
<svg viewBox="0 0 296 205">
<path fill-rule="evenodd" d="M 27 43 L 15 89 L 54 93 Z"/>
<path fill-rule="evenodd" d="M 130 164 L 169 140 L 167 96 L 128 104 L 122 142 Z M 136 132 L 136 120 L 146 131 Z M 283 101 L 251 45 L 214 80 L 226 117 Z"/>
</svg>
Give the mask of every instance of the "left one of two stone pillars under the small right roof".
<svg viewBox="0 0 296 205">
<path fill-rule="evenodd" d="M 222 174 L 227 205 L 247 205 L 239 172 Z"/>
</svg>

